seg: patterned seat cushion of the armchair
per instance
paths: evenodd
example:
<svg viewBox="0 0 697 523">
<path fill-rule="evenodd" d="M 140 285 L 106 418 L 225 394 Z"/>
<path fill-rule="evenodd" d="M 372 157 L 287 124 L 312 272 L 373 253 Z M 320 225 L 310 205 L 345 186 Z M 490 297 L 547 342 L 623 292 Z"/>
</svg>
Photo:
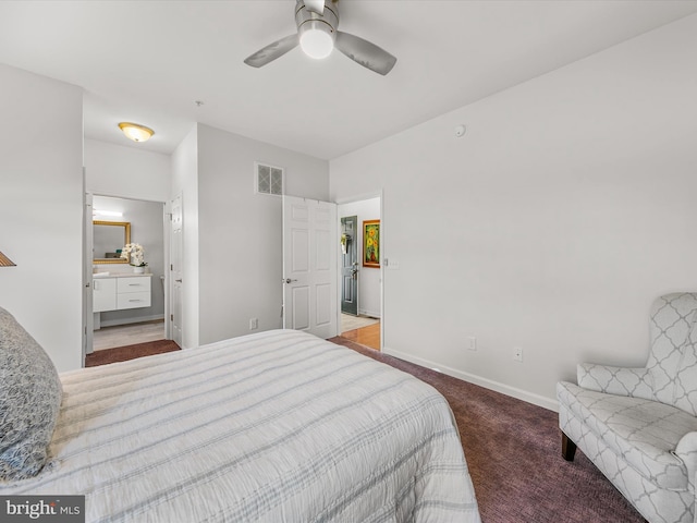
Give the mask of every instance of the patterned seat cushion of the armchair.
<svg viewBox="0 0 697 523">
<path fill-rule="evenodd" d="M 697 417 L 672 405 L 596 392 L 566 381 L 558 384 L 557 392 L 566 409 L 585 419 L 595 438 L 641 476 L 660 488 L 688 488 L 693 478 L 674 451 L 683 436 L 697 431 Z"/>
</svg>

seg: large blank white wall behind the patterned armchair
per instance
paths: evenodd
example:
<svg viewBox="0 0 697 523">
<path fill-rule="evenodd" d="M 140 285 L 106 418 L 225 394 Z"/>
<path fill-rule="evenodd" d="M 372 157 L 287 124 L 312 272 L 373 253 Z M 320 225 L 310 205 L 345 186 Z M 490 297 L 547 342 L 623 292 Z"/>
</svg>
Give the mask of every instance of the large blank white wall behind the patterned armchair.
<svg viewBox="0 0 697 523">
<path fill-rule="evenodd" d="M 552 409 L 577 362 L 643 365 L 697 290 L 695 63 L 697 15 L 331 161 L 332 198 L 384 191 L 386 351 Z"/>
</svg>

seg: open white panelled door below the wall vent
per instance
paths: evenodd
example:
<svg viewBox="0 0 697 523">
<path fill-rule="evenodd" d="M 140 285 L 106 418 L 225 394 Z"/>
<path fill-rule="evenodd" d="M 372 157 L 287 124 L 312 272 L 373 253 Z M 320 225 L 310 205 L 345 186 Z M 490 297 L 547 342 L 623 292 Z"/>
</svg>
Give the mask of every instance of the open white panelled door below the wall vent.
<svg viewBox="0 0 697 523">
<path fill-rule="evenodd" d="M 283 196 L 283 328 L 337 336 L 337 205 Z"/>
</svg>

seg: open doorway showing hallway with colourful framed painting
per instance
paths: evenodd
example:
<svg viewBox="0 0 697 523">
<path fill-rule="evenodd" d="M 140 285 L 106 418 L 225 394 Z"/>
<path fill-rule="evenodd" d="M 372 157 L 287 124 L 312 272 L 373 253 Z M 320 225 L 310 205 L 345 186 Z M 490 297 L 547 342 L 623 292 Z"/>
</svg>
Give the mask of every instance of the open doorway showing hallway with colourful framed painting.
<svg viewBox="0 0 697 523">
<path fill-rule="evenodd" d="M 339 204 L 341 233 L 340 336 L 380 350 L 380 196 Z M 377 227 L 376 227 L 377 226 Z"/>
</svg>

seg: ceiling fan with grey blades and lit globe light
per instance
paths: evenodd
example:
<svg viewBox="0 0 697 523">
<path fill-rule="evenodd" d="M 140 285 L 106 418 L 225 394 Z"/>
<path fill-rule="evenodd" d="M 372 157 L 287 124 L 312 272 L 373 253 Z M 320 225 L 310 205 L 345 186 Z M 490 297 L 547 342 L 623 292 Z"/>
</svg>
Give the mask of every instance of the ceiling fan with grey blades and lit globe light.
<svg viewBox="0 0 697 523">
<path fill-rule="evenodd" d="M 269 44 L 244 61 L 260 68 L 282 57 L 298 45 L 311 58 L 326 58 L 335 47 L 354 62 L 386 75 L 396 63 L 396 58 L 363 38 L 337 31 L 339 27 L 339 0 L 296 0 L 295 24 L 297 33 Z"/>
</svg>

